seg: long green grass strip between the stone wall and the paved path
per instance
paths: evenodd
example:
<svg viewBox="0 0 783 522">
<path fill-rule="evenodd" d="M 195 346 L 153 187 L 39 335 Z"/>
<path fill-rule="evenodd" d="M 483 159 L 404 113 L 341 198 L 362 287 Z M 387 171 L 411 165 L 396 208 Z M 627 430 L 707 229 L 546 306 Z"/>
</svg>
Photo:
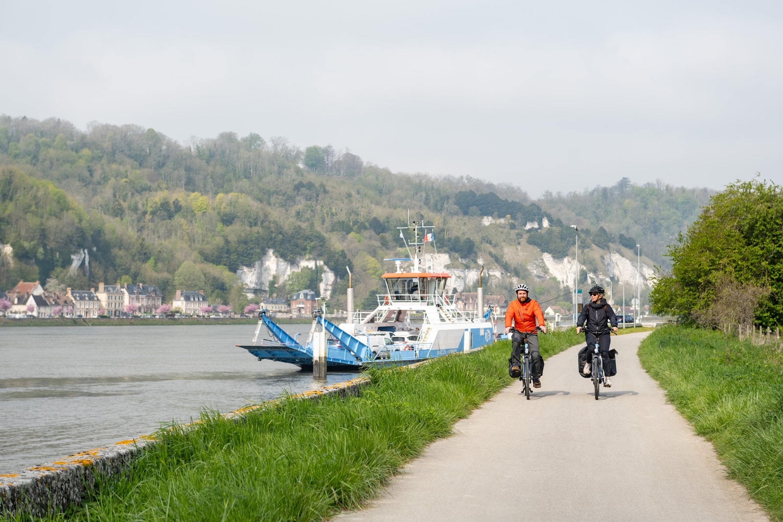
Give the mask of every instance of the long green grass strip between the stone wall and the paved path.
<svg viewBox="0 0 783 522">
<path fill-rule="evenodd" d="M 580 337 L 542 336 L 543 355 Z M 375 369 L 359 397 L 283 400 L 240 424 L 204 414 L 197 430 L 161 431 L 121 480 L 49 520 L 320 520 L 359 506 L 511 383 L 509 352 L 504 340 L 413 369 Z"/>
</svg>

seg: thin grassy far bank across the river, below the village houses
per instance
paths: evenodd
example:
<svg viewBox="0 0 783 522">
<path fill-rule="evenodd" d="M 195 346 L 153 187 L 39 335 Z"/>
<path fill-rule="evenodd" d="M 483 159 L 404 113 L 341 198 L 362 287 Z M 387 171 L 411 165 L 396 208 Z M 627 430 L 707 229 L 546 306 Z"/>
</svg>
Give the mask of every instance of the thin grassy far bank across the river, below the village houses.
<svg viewBox="0 0 783 522">
<path fill-rule="evenodd" d="M 6 319 L 0 318 L 0 328 L 5 326 L 176 326 L 176 325 L 254 325 L 258 322 L 255 318 L 207 318 L 199 319 L 192 317 L 182 318 L 121 318 L 121 319 L 77 319 L 70 317 L 57 317 L 52 319 Z M 280 325 L 305 324 L 312 322 L 312 319 L 275 319 Z"/>
</svg>

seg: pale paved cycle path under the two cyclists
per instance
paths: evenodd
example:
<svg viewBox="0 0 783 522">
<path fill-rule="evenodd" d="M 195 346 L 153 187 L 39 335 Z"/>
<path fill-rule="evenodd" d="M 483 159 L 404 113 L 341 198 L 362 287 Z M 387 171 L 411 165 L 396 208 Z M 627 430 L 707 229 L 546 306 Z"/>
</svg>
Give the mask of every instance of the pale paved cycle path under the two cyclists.
<svg viewBox="0 0 783 522">
<path fill-rule="evenodd" d="M 598 401 L 572 347 L 529 401 L 515 381 L 380 498 L 331 520 L 769 520 L 641 369 L 646 335 L 612 337 L 618 375 Z"/>
</svg>

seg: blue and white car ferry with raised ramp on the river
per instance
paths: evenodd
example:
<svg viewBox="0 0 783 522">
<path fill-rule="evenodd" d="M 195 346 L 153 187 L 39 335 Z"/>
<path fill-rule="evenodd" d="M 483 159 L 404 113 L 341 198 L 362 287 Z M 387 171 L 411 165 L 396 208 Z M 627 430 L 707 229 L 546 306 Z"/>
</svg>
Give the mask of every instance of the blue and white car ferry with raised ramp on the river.
<svg viewBox="0 0 783 522">
<path fill-rule="evenodd" d="M 447 292 L 451 275 L 435 272 L 433 256 L 425 252 L 428 244 L 434 244 L 434 227 L 413 221 L 398 229 L 409 257 L 385 260 L 394 261 L 396 269 L 381 275 L 385 293 L 377 296 L 372 311 L 349 310 L 348 322 L 340 325 L 316 311 L 309 337 L 300 343 L 261 310 L 253 344 L 237 346 L 260 361 L 290 362 L 312 370 L 313 334 L 325 331 L 327 370 L 345 371 L 367 365 L 412 364 L 492 343 L 496 337 L 493 309 L 458 310 L 454 295 Z M 259 341 L 262 329 L 269 335 Z"/>
</svg>

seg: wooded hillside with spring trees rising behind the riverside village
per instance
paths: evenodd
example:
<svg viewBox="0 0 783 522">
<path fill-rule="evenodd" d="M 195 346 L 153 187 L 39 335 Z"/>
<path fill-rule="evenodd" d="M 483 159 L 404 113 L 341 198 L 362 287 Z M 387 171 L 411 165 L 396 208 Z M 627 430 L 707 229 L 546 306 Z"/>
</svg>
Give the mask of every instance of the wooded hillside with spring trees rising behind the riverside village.
<svg viewBox="0 0 783 522">
<path fill-rule="evenodd" d="M 287 139 L 223 132 L 183 146 L 151 128 L 0 117 L 0 290 L 20 279 L 89 288 L 98 282 L 143 282 L 170 299 L 182 284 L 204 282 L 211 302 L 240 308 L 236 269 L 271 248 L 278 257 L 323 259 L 341 278 L 354 273 L 357 295 L 370 293 L 384 257 L 401 254 L 397 226 L 409 211 L 436 225 L 438 251 L 457 268 L 499 267 L 528 279 L 525 259 L 509 244 L 529 244 L 555 257 L 582 248 L 644 244 L 642 254 L 667 265 L 672 243 L 709 199 L 703 189 L 633 185 L 623 178 L 588 193 L 547 194 L 474 178 L 393 173 L 330 146 L 301 149 Z M 497 218 L 482 225 L 482 216 Z M 525 230 L 547 219 L 547 229 Z M 70 270 L 87 250 L 89 271 Z M 633 252 L 635 254 L 635 250 Z M 586 263 L 600 260 L 586 256 Z M 306 272 L 306 271 L 303 271 Z M 315 286 L 315 272 L 276 281 L 273 293 Z M 203 279 L 202 279 L 203 278 Z M 485 282 L 487 284 L 487 282 Z M 506 292 L 510 282 L 499 284 Z M 538 295 L 560 293 L 536 281 Z"/>
</svg>

